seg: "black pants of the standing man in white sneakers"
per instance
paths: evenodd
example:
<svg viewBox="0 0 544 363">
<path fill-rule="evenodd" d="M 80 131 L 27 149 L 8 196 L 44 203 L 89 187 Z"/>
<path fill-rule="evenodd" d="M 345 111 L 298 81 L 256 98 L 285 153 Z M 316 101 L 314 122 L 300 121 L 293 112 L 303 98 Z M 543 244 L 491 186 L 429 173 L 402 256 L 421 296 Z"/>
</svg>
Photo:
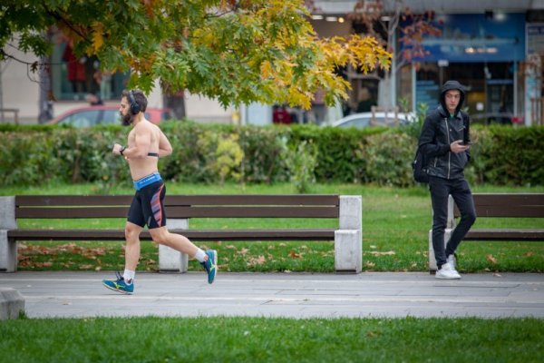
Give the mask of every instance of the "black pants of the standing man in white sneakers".
<svg viewBox="0 0 544 363">
<path fill-rule="evenodd" d="M 472 200 L 471 188 L 464 179 L 447 180 L 430 177 L 429 190 L 432 199 L 432 250 L 436 266 L 440 270 L 446 263 L 447 256 L 457 250 L 461 240 L 476 221 L 476 211 Z M 452 194 L 453 201 L 461 212 L 461 221 L 453 230 L 452 237 L 444 249 L 444 231 L 448 221 L 448 195 Z"/>
</svg>

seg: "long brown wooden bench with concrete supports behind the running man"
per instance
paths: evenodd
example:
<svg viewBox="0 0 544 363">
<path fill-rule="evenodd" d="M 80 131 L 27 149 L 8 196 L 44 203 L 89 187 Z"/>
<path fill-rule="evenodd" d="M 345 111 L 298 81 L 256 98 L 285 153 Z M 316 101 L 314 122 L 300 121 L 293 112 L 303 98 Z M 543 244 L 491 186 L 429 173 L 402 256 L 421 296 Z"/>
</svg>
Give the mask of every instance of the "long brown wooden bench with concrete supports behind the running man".
<svg viewBox="0 0 544 363">
<path fill-rule="evenodd" d="M 0 271 L 15 271 L 17 240 L 124 240 L 115 230 L 19 229 L 22 219 L 126 218 L 132 196 L 34 195 L 0 197 Z M 335 270 L 362 269 L 362 197 L 338 195 L 168 195 L 169 230 L 189 240 L 334 240 Z M 191 218 L 325 218 L 334 229 L 190 230 Z M 84 224 L 84 223 L 82 223 Z M 147 230 L 141 240 L 151 240 Z M 159 246 L 160 270 L 185 272 L 188 257 Z"/>
</svg>

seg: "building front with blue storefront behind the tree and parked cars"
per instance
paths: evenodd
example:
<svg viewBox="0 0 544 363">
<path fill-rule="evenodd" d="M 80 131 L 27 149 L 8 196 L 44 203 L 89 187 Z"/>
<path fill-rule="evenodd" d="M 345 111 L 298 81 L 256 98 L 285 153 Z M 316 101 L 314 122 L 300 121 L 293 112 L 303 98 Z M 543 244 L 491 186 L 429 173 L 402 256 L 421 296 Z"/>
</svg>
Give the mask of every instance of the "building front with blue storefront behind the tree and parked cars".
<svg viewBox="0 0 544 363">
<path fill-rule="evenodd" d="M 423 38 L 426 51 L 415 62 L 397 67 L 390 74 L 362 74 L 339 70 L 352 85 L 350 99 L 326 107 L 316 102 L 309 112 L 288 109 L 296 123 L 330 123 L 347 113 L 364 112 L 372 105 L 395 105 L 415 109 L 419 103 L 436 105 L 440 85 L 457 79 L 468 88 L 466 106 L 476 120 L 494 123 L 542 123 L 542 59 L 544 59 L 544 0 L 328 0 L 314 1 L 312 25 L 322 37 L 348 36 L 364 32 L 354 13 L 383 5 L 384 23 L 399 6 L 413 13 L 432 10 L 433 24 L 441 35 Z M 403 25 L 400 25 L 401 28 Z M 364 34 L 364 33 L 363 33 Z M 403 44 L 397 34 L 393 53 Z M 14 120 L 37 123 L 73 107 L 87 105 L 86 94 L 98 94 L 106 104 L 118 104 L 126 74 L 101 74 L 99 60 L 76 60 L 70 44 L 51 35 L 54 50 L 49 73 L 30 72 L 30 66 L 8 60 L 0 64 L 0 122 Z M 10 50 L 11 52 L 11 50 Z M 12 52 L 13 53 L 13 52 Z M 15 54 L 28 64 L 32 54 Z M 398 68 L 398 69 L 397 69 Z M 387 76 L 386 76 L 387 75 Z M 51 92 L 50 92 L 51 91 Z M 51 100 L 50 95 L 54 95 Z M 185 93 L 186 114 L 198 122 L 268 124 L 275 121 L 274 105 L 250 104 L 239 110 L 223 109 L 215 100 Z M 162 108 L 163 97 L 156 85 L 149 94 L 150 107 Z M 281 105 L 277 105 L 281 107 Z M 509 121 L 510 119 L 510 121 Z"/>
</svg>

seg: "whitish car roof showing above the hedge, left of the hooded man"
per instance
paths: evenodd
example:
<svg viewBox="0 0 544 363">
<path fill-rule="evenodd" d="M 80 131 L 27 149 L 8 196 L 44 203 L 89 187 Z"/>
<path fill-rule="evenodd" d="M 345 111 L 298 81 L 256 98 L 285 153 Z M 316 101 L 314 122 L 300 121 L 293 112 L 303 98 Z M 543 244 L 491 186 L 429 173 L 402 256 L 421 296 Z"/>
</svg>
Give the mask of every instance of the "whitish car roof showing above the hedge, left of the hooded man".
<svg viewBox="0 0 544 363">
<path fill-rule="evenodd" d="M 412 123 L 413 113 L 353 113 L 329 124 L 332 127 L 355 127 L 363 129 L 370 126 L 398 126 Z"/>
</svg>

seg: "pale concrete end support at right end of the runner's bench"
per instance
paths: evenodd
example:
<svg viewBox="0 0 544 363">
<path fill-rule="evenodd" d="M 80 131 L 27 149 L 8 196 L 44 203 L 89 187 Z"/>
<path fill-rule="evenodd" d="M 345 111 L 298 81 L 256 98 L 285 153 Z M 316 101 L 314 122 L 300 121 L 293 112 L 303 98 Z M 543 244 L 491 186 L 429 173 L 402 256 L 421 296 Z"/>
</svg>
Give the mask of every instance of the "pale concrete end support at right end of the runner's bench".
<svg viewBox="0 0 544 363">
<path fill-rule="evenodd" d="M 335 231 L 336 272 L 359 273 L 363 269 L 363 198 L 340 196 L 340 229 Z"/>
</svg>

